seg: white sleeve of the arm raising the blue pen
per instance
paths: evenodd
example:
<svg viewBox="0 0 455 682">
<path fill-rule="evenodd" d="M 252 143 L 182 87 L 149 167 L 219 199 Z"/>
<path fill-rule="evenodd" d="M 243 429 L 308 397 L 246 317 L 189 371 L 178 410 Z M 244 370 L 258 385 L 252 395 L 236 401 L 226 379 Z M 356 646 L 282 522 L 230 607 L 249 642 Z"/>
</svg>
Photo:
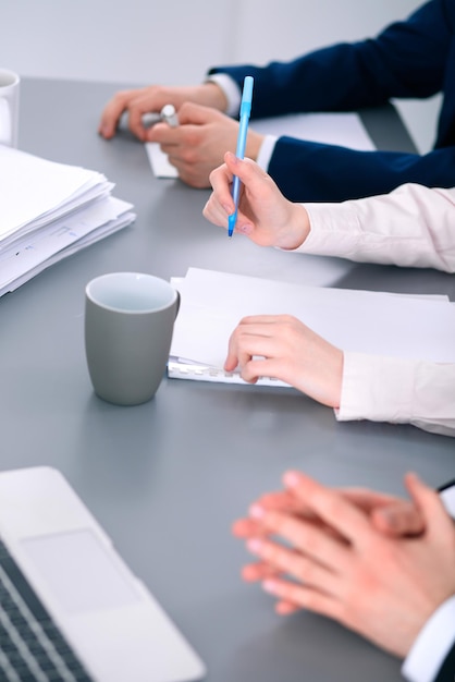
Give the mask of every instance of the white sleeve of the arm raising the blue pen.
<svg viewBox="0 0 455 682">
<path fill-rule="evenodd" d="M 408 183 L 386 195 L 304 206 L 311 228 L 297 252 L 455 272 L 455 188 Z"/>
</svg>

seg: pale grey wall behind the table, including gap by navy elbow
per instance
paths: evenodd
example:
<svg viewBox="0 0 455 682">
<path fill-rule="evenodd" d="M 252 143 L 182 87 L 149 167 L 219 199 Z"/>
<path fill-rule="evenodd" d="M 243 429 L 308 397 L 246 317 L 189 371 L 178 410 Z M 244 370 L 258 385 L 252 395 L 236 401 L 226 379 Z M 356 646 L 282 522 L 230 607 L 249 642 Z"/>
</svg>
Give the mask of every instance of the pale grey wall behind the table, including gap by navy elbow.
<svg viewBox="0 0 455 682">
<path fill-rule="evenodd" d="M 0 66 L 24 76 L 145 85 L 199 82 L 207 68 L 292 59 L 373 36 L 420 0 L 0 0 Z M 420 151 L 440 99 L 397 102 Z"/>
</svg>

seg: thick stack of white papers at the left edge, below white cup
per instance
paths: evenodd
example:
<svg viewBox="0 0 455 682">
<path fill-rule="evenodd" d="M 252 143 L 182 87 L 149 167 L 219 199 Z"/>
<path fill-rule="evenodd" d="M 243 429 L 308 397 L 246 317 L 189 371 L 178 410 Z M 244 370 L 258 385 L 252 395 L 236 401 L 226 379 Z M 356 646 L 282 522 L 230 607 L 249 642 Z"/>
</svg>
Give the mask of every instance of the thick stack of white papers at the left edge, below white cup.
<svg viewBox="0 0 455 682">
<path fill-rule="evenodd" d="M 136 218 L 96 171 L 0 145 L 0 295 Z"/>
</svg>

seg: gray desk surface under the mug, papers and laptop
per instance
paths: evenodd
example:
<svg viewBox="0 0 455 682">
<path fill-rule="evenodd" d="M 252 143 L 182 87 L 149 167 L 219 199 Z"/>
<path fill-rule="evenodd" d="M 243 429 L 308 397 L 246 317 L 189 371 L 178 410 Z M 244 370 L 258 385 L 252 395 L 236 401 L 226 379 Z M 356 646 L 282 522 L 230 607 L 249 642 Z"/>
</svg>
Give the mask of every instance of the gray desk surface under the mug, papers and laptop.
<svg viewBox="0 0 455 682">
<path fill-rule="evenodd" d="M 153 179 L 127 132 L 111 142 L 97 135 L 116 89 L 23 83 L 21 148 L 104 172 L 138 218 L 0 300 L 0 466 L 65 474 L 206 660 L 208 680 L 399 680 L 396 659 L 343 628 L 311 613 L 278 617 L 260 588 L 242 583 L 247 555 L 230 526 L 288 467 L 392 492 L 403 491 L 408 470 L 441 484 L 454 475 L 454 441 L 411 426 L 337 424 L 292 389 L 164 378 L 148 404 L 109 405 L 93 394 L 86 370 L 84 288 L 112 270 L 168 279 L 196 266 L 455 299 L 454 278 L 228 242 L 201 216 L 208 191 Z"/>
</svg>

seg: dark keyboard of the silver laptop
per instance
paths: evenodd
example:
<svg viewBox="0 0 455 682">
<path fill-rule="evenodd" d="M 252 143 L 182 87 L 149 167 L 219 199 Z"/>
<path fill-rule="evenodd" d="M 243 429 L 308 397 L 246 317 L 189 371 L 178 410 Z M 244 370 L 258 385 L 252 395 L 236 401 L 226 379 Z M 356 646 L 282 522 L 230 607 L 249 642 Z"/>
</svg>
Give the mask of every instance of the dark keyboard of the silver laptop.
<svg viewBox="0 0 455 682">
<path fill-rule="evenodd" d="M 94 682 L 1 540 L 0 680 Z"/>
</svg>

